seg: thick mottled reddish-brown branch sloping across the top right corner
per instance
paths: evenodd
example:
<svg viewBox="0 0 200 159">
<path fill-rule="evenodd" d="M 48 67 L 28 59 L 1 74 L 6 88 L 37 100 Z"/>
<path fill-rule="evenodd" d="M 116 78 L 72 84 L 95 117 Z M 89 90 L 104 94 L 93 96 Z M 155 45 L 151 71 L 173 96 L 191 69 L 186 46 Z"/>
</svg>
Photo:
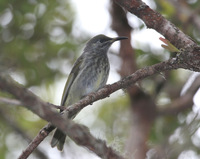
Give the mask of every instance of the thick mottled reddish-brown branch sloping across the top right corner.
<svg viewBox="0 0 200 159">
<path fill-rule="evenodd" d="M 200 46 L 185 35 L 174 24 L 155 12 L 141 0 L 114 0 L 121 7 L 135 14 L 144 21 L 148 28 L 155 29 L 168 39 L 175 47 L 184 50 L 181 60 L 184 68 L 200 72 Z"/>
</svg>

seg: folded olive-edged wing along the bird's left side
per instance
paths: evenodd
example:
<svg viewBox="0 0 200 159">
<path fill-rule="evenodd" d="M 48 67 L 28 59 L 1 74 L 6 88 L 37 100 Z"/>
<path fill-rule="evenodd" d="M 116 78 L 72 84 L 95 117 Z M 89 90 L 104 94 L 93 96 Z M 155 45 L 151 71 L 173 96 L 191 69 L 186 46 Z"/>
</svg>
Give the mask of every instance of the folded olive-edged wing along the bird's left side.
<svg viewBox="0 0 200 159">
<path fill-rule="evenodd" d="M 80 56 L 77 61 L 74 63 L 74 66 L 68 76 L 67 82 L 65 84 L 65 89 L 63 91 L 63 96 L 62 96 L 62 100 L 61 100 L 61 106 L 65 105 L 65 102 L 67 100 L 67 96 L 69 94 L 71 85 L 73 84 L 75 78 L 77 77 L 77 75 L 79 74 L 79 71 L 81 70 L 81 64 L 83 62 L 83 56 Z"/>
</svg>

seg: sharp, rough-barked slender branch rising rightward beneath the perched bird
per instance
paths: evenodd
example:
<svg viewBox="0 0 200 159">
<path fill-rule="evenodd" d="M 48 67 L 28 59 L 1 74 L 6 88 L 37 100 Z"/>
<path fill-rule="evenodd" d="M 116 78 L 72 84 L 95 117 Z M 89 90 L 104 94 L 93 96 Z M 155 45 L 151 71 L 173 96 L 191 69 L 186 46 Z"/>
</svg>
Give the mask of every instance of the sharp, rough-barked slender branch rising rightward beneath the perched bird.
<svg viewBox="0 0 200 159">
<path fill-rule="evenodd" d="M 97 100 L 106 98 L 110 94 L 118 91 L 119 89 L 126 89 L 139 80 L 142 80 L 148 76 L 154 75 L 159 72 L 181 68 L 182 65 L 177 61 L 175 59 L 169 59 L 167 61 L 139 69 L 132 75 L 129 75 L 111 85 L 106 85 L 104 88 L 100 89 L 95 93 L 89 94 L 88 96 L 80 100 L 78 103 L 67 107 L 66 111 L 68 111 L 69 116 L 73 116 L 87 105 Z"/>
</svg>

